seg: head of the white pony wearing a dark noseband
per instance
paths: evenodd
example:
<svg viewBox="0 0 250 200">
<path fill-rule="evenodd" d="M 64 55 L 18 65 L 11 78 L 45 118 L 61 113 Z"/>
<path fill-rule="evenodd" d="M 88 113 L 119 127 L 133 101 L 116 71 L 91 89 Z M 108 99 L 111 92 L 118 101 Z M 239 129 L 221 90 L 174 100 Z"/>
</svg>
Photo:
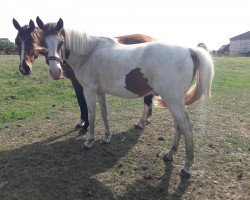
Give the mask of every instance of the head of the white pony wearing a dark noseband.
<svg viewBox="0 0 250 200">
<path fill-rule="evenodd" d="M 48 49 L 46 60 L 50 67 L 51 77 L 58 80 L 63 73 L 61 67 L 64 60 L 63 20 L 60 18 L 57 23 L 44 24 L 37 17 L 36 22 L 38 27 L 43 30 L 42 46 Z"/>
</svg>

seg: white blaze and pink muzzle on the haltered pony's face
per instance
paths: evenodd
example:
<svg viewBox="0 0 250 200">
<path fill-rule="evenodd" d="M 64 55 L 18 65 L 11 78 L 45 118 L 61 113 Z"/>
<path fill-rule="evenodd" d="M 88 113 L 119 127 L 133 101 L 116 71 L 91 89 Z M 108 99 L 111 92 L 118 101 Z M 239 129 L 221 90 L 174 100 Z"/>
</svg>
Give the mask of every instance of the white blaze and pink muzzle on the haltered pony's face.
<svg viewBox="0 0 250 200">
<path fill-rule="evenodd" d="M 48 58 L 49 57 L 60 58 L 57 52 L 58 40 L 56 36 L 54 35 L 48 36 L 45 42 L 48 47 Z M 61 64 L 59 61 L 49 60 L 49 69 L 50 69 L 50 75 L 54 80 L 58 80 L 61 78 L 62 68 L 61 68 Z"/>
</svg>

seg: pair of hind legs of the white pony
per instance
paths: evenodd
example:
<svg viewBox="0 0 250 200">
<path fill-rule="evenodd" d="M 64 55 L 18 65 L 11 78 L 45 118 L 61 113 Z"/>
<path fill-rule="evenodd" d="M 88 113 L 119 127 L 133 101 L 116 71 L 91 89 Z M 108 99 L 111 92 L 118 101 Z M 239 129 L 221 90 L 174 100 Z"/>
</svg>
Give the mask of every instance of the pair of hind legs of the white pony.
<svg viewBox="0 0 250 200">
<path fill-rule="evenodd" d="M 167 102 L 167 101 L 166 101 Z M 193 152 L 193 124 L 190 121 L 188 114 L 185 112 L 184 105 L 182 103 L 177 104 L 169 104 L 168 107 L 171 111 L 171 114 L 175 120 L 175 127 L 176 127 L 176 135 L 173 142 L 173 146 L 170 151 L 166 154 L 167 158 L 172 157 L 173 154 L 177 152 L 180 134 L 183 133 L 184 140 L 185 140 L 185 164 L 182 168 L 180 175 L 183 178 L 190 177 L 190 168 L 194 163 L 194 152 Z"/>
</svg>

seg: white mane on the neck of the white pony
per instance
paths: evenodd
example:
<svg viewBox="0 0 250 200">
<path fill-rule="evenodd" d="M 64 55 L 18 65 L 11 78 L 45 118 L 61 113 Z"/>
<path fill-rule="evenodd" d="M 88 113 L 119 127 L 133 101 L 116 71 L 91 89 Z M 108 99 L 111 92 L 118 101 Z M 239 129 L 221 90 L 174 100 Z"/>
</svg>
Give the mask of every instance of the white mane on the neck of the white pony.
<svg viewBox="0 0 250 200">
<path fill-rule="evenodd" d="M 70 51 L 85 55 L 90 47 L 91 37 L 83 31 L 77 31 L 70 28 L 64 28 L 65 45 Z"/>
</svg>

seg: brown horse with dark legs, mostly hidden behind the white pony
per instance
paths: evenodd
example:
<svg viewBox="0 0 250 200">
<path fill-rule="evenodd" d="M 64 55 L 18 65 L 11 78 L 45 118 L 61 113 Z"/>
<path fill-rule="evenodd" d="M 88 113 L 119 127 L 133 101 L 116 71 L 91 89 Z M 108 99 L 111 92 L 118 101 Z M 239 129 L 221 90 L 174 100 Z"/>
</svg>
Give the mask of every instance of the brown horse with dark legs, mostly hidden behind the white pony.
<svg viewBox="0 0 250 200">
<path fill-rule="evenodd" d="M 18 53 L 20 55 L 19 71 L 23 75 L 30 75 L 32 64 L 39 54 L 42 54 L 47 58 L 47 52 L 40 48 L 43 32 L 40 28 L 35 27 L 35 24 L 32 20 L 30 20 L 29 25 L 24 25 L 21 27 L 17 20 L 13 18 L 13 25 L 18 30 L 15 43 L 18 47 Z M 122 44 L 136 44 L 155 40 L 150 36 L 142 34 L 125 35 L 116 38 Z M 67 62 L 62 62 L 62 68 L 64 76 L 71 80 L 76 93 L 78 105 L 81 110 L 80 120 L 77 123 L 76 128 L 79 128 L 79 133 L 83 134 L 87 132 L 87 128 L 89 126 L 88 110 L 83 94 L 83 88 L 77 81 L 73 69 Z M 153 95 L 144 97 L 144 111 L 140 120 L 136 123 L 135 128 L 143 128 L 147 123 L 148 117 L 152 115 L 152 98 Z"/>
</svg>

